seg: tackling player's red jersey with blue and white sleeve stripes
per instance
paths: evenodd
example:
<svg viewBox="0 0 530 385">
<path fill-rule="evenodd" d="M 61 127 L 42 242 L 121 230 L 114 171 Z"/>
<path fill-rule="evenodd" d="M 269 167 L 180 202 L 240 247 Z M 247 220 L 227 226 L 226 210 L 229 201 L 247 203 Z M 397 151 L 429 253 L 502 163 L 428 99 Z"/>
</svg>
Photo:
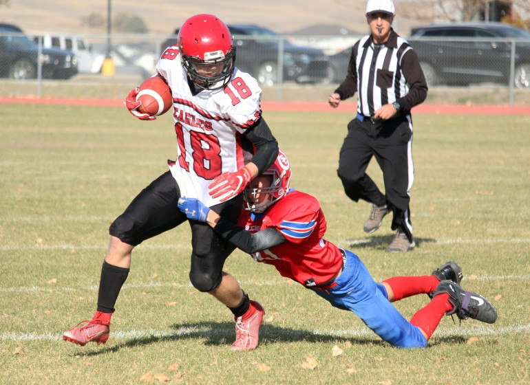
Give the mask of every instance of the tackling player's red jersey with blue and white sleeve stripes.
<svg viewBox="0 0 530 385">
<path fill-rule="evenodd" d="M 249 232 L 275 228 L 286 242 L 253 255 L 257 262 L 274 265 L 279 274 L 302 285 L 313 277 L 329 281 L 342 266 L 340 251 L 325 239 L 326 219 L 319 201 L 290 190 L 263 214 L 242 213 L 239 225 Z"/>
</svg>

